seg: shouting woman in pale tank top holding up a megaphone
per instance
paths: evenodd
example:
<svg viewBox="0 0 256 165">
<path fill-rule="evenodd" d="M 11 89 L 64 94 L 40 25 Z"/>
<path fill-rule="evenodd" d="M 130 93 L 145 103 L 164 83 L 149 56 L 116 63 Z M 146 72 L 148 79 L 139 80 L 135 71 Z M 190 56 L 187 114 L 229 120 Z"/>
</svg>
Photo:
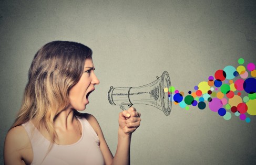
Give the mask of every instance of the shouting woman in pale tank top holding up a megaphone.
<svg viewBox="0 0 256 165">
<path fill-rule="evenodd" d="M 22 107 L 8 131 L 8 164 L 129 164 L 131 134 L 140 113 L 119 113 L 118 145 L 113 157 L 93 115 L 82 114 L 99 84 L 90 48 L 53 41 L 36 53 L 28 72 Z"/>
</svg>

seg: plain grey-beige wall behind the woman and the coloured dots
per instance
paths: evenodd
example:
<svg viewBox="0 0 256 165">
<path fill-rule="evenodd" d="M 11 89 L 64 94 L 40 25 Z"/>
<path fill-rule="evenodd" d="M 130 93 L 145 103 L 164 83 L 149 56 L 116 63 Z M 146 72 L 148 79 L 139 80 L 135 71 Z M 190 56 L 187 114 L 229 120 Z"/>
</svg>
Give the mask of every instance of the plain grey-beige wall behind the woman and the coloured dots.
<svg viewBox="0 0 256 165">
<path fill-rule="evenodd" d="M 93 49 L 100 84 L 86 112 L 104 131 L 113 154 L 118 106 L 107 100 L 110 86 L 148 84 L 170 74 L 183 92 L 227 65 L 256 62 L 255 1 L 1 1 L 1 157 L 8 128 L 21 106 L 27 71 L 35 52 L 53 40 Z M 132 136 L 131 164 L 252 164 L 255 126 L 232 116 L 226 121 L 209 108 L 170 116 L 147 105 Z"/>
</svg>

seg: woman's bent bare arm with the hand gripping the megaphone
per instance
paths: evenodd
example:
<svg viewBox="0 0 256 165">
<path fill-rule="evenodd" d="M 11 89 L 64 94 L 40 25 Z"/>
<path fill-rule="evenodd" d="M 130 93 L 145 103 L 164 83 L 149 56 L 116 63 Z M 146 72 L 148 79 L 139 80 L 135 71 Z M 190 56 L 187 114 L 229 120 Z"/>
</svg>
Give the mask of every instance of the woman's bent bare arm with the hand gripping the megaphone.
<svg viewBox="0 0 256 165">
<path fill-rule="evenodd" d="M 139 114 L 139 113 L 138 113 Z M 118 144 L 115 157 L 113 158 L 112 153 L 110 152 L 107 142 L 104 138 L 104 135 L 101 131 L 101 128 L 92 115 L 88 118 L 91 126 L 95 129 L 99 141 L 100 141 L 100 150 L 103 153 L 103 157 L 106 164 L 130 164 L 130 142 L 131 134 L 136 130 L 140 125 L 140 114 L 137 117 L 136 109 L 130 107 L 128 111 L 123 111 L 119 113 L 119 128 L 118 128 Z"/>
</svg>

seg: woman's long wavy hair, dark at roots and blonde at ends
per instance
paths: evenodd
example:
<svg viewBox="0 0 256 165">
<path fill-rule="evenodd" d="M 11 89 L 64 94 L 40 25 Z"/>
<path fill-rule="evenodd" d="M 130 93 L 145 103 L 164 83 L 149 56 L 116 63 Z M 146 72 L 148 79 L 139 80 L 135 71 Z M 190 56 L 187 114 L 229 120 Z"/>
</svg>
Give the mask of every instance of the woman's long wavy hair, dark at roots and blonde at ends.
<svg viewBox="0 0 256 165">
<path fill-rule="evenodd" d="M 28 71 L 22 106 L 12 128 L 33 120 L 37 129 L 48 131 L 53 142 L 54 118 L 69 105 L 68 92 L 91 55 L 90 48 L 77 42 L 53 41 L 40 48 Z"/>
</svg>

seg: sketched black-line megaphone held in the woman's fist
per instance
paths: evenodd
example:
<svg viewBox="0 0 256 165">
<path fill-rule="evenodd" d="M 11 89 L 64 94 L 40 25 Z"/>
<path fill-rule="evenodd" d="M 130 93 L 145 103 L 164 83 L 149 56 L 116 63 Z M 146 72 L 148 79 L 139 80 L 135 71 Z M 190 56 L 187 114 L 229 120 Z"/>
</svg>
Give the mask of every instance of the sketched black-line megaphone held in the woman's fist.
<svg viewBox="0 0 256 165">
<path fill-rule="evenodd" d="M 170 77 L 165 71 L 160 78 L 157 76 L 157 80 L 147 85 L 139 87 L 111 86 L 108 91 L 108 101 L 111 105 L 120 105 L 123 110 L 134 104 L 151 105 L 163 111 L 165 115 L 169 115 L 172 101 L 171 97 L 168 97 L 168 92 L 163 90 L 166 87 L 169 89 L 170 86 Z"/>
</svg>

